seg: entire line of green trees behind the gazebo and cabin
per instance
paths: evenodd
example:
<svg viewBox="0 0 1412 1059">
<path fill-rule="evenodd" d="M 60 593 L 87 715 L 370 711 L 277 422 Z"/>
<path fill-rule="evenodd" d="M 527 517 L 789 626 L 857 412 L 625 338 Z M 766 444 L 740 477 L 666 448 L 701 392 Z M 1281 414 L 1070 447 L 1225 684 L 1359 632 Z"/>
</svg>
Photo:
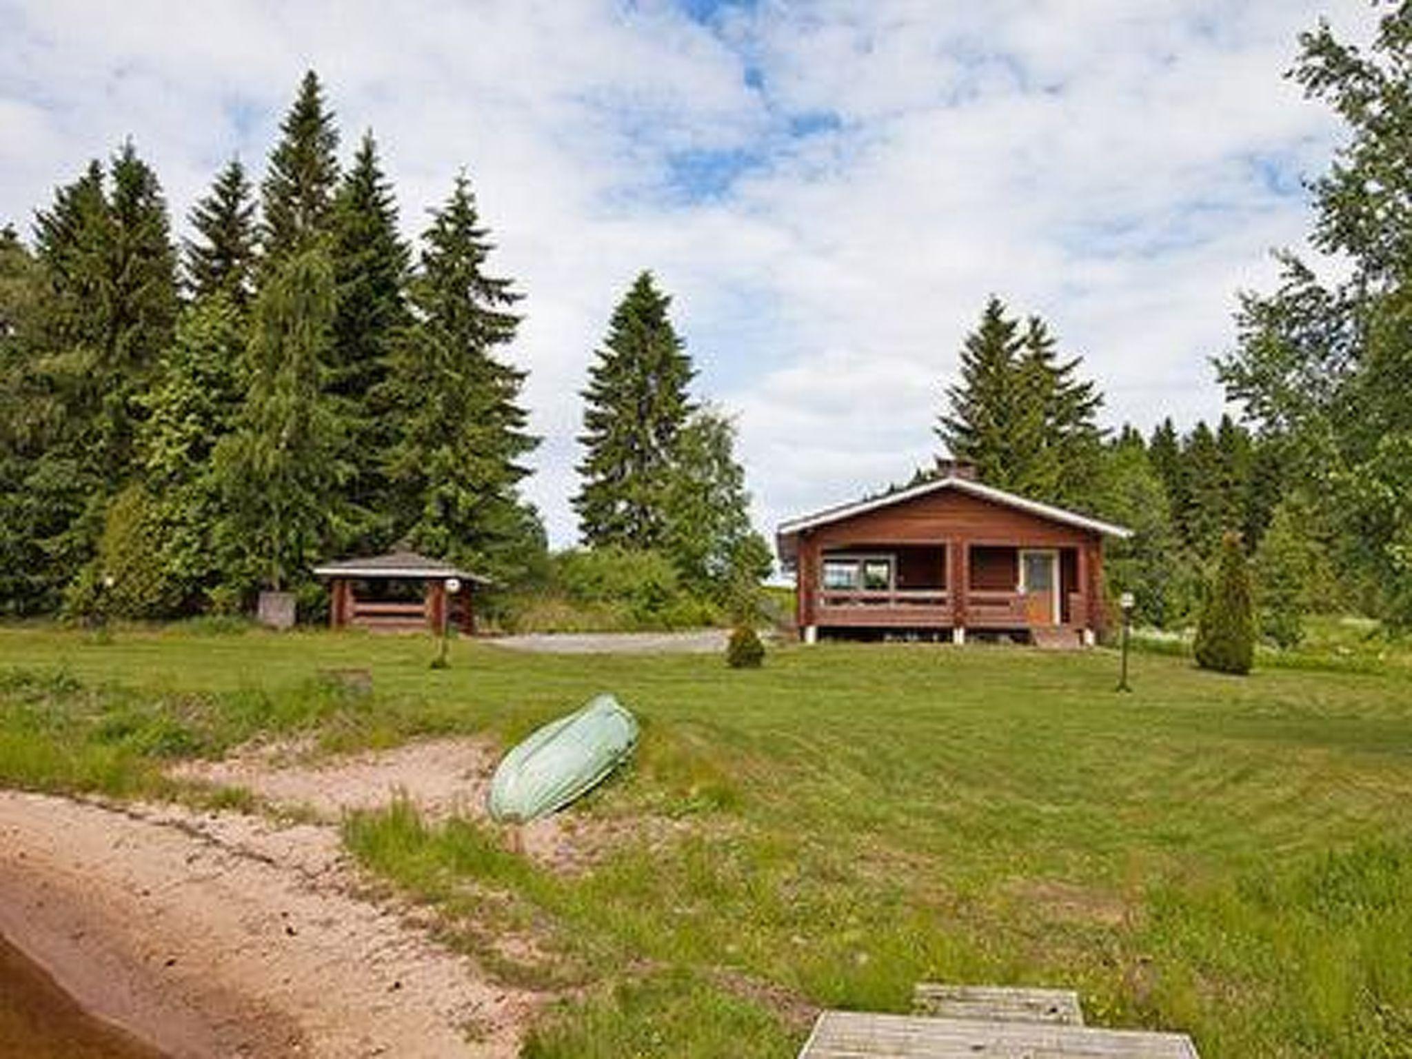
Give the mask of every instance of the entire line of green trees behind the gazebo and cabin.
<svg viewBox="0 0 1412 1059">
<path fill-rule="evenodd" d="M 1282 253 L 1278 289 L 1241 297 L 1213 361 L 1238 419 L 1101 429 L 1080 359 L 998 298 L 966 340 L 942 455 L 1131 527 L 1107 573 L 1139 621 L 1190 626 L 1234 534 L 1275 642 L 1310 609 L 1412 626 L 1409 64 L 1406 3 L 1371 47 L 1300 38 L 1291 75 L 1347 140 L 1310 184 L 1309 256 Z M 490 267 L 467 178 L 409 246 L 371 134 L 346 169 L 337 145 L 309 73 L 258 186 L 232 161 L 181 247 L 130 143 L 59 188 L 30 241 L 0 236 L 0 610 L 233 611 L 261 587 L 309 609 L 313 561 L 397 542 L 507 589 L 558 570 L 642 623 L 748 594 L 770 551 L 734 428 L 692 397 L 654 277 L 593 359 L 586 548 L 551 562 L 520 494 L 538 443 L 508 357 L 521 292 Z"/>
</svg>

